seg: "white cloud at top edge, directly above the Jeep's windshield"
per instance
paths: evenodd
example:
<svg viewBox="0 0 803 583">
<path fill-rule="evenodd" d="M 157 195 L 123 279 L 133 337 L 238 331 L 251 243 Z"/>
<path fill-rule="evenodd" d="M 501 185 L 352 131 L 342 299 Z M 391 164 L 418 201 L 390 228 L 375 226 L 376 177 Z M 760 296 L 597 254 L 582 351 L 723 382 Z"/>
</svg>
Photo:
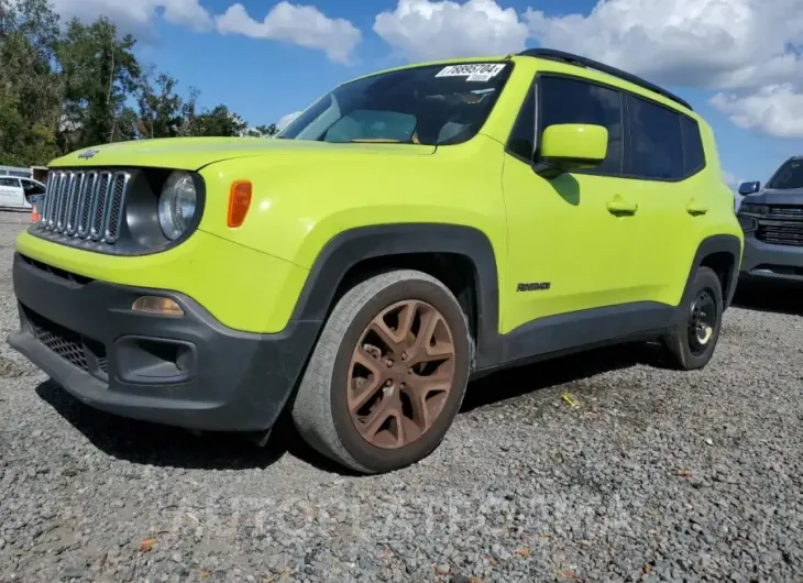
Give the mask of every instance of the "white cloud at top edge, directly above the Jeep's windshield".
<svg viewBox="0 0 803 583">
<path fill-rule="evenodd" d="M 515 53 L 527 38 L 516 11 L 494 0 L 399 0 L 377 14 L 374 32 L 413 61 Z"/>
</svg>

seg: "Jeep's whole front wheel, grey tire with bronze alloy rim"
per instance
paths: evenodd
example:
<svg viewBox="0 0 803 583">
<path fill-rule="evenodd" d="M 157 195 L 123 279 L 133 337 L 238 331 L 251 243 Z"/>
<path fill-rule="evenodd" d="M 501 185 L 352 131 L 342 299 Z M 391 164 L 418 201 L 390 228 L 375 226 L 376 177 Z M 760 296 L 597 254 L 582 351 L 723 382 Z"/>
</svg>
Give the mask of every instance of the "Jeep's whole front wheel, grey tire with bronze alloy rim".
<svg viewBox="0 0 803 583">
<path fill-rule="evenodd" d="M 351 470 L 404 468 L 446 436 L 471 352 L 465 315 L 441 282 L 408 270 L 376 275 L 334 306 L 293 420 L 312 448 Z"/>
</svg>

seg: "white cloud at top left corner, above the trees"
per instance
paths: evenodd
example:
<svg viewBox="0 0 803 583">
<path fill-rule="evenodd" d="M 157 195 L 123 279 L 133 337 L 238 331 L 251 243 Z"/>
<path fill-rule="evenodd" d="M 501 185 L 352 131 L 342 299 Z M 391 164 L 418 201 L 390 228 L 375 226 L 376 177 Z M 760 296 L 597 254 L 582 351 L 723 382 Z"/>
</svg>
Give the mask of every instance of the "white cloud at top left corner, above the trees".
<svg viewBox="0 0 803 583">
<path fill-rule="evenodd" d="M 108 16 L 122 32 L 150 34 L 154 16 L 162 13 L 172 24 L 209 30 L 211 16 L 199 0 L 53 0 L 62 16 L 92 21 Z"/>
</svg>

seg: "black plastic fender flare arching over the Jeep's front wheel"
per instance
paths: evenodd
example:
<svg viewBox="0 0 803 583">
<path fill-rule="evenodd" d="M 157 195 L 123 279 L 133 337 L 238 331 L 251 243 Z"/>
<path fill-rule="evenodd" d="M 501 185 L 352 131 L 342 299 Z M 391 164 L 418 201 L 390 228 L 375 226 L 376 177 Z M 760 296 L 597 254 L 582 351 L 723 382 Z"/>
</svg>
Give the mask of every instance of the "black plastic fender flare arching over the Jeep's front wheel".
<svg viewBox="0 0 803 583">
<path fill-rule="evenodd" d="M 496 254 L 485 233 L 446 223 L 395 223 L 358 227 L 329 240 L 312 264 L 292 320 L 322 322 L 345 274 L 358 263 L 409 253 L 452 253 L 474 267 L 477 361 L 498 359 L 499 278 Z M 477 362 L 477 365 L 481 362 Z"/>
</svg>

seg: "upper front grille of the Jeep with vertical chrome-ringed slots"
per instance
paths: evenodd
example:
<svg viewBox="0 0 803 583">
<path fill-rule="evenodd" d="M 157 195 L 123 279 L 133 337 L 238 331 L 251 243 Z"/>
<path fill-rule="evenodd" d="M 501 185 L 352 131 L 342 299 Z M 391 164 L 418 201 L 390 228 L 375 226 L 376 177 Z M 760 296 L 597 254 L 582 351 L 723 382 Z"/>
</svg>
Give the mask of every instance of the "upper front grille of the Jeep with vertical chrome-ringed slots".
<svg viewBox="0 0 803 583">
<path fill-rule="evenodd" d="M 114 244 L 120 237 L 131 174 L 51 170 L 38 227 L 47 232 Z"/>
</svg>

